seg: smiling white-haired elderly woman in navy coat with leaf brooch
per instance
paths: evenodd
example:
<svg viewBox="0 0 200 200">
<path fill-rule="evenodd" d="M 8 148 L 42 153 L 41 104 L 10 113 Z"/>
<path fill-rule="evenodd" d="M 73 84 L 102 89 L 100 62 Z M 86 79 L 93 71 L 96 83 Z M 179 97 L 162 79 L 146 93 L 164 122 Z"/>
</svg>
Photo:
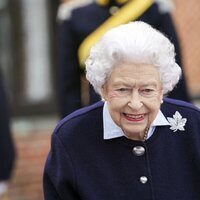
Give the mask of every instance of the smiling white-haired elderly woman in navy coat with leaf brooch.
<svg viewBox="0 0 200 200">
<path fill-rule="evenodd" d="M 200 199 L 200 112 L 163 98 L 181 76 L 173 44 L 143 22 L 109 30 L 87 79 L 102 101 L 56 127 L 46 200 Z"/>
</svg>

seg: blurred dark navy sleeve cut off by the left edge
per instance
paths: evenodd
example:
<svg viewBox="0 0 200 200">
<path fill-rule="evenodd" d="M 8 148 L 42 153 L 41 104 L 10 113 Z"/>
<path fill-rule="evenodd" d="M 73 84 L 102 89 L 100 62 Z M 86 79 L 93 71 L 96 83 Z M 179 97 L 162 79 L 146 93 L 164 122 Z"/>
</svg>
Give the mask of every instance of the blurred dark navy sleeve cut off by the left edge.
<svg viewBox="0 0 200 200">
<path fill-rule="evenodd" d="M 8 180 L 15 160 L 8 102 L 0 72 L 0 181 Z"/>
</svg>

